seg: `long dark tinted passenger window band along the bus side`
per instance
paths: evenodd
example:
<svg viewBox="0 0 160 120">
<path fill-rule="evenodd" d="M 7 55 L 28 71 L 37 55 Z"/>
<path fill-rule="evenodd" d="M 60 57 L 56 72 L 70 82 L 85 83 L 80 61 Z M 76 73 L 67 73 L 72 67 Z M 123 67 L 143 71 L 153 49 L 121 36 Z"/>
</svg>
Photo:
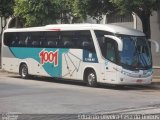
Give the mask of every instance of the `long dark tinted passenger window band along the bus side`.
<svg viewBox="0 0 160 120">
<path fill-rule="evenodd" d="M 4 43 L 10 47 L 48 47 L 95 50 L 89 30 L 5 33 Z"/>
</svg>

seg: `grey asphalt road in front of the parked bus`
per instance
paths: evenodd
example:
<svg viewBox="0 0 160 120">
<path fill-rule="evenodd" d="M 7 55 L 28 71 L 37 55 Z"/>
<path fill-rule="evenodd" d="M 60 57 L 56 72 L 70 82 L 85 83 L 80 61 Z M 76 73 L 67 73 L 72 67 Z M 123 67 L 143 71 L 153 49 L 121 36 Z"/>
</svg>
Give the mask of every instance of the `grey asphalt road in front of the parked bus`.
<svg viewBox="0 0 160 120">
<path fill-rule="evenodd" d="M 21 79 L 0 72 L 0 113 L 159 114 L 160 84 L 87 87 L 84 83 L 45 77 Z"/>
</svg>

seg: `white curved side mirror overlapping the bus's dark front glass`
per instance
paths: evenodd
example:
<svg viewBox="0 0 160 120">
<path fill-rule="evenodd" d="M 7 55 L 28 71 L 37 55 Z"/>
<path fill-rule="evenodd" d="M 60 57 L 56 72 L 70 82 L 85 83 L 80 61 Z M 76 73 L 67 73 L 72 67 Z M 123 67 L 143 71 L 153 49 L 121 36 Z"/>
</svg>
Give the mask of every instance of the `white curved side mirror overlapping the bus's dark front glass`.
<svg viewBox="0 0 160 120">
<path fill-rule="evenodd" d="M 120 38 L 116 37 L 116 36 L 112 36 L 112 35 L 104 35 L 104 37 L 106 38 L 111 38 L 113 40 L 115 40 L 118 44 L 118 50 L 122 51 L 123 50 L 123 42 Z"/>
</svg>

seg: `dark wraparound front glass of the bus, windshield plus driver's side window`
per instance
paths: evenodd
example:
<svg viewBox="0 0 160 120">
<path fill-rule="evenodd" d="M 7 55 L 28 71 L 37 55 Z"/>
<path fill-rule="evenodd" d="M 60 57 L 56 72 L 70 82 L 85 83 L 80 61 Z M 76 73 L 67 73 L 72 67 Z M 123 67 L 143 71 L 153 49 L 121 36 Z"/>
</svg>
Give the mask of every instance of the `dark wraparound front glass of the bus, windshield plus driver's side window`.
<svg viewBox="0 0 160 120">
<path fill-rule="evenodd" d="M 113 34 L 106 31 L 95 31 L 95 33 L 105 59 L 128 70 L 144 70 L 152 67 L 151 51 L 145 36 L 116 34 L 123 42 L 123 50 L 118 51 L 116 41 L 104 37 Z"/>
</svg>

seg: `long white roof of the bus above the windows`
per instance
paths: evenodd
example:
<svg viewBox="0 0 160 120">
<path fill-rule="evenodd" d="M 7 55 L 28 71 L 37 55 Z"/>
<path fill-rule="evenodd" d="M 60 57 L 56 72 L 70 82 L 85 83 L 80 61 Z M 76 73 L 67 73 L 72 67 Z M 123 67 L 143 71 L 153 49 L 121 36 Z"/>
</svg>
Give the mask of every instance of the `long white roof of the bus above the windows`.
<svg viewBox="0 0 160 120">
<path fill-rule="evenodd" d="M 9 28 L 5 32 L 25 32 L 25 31 L 71 31 L 71 30 L 104 30 L 114 34 L 124 34 L 133 36 L 145 36 L 145 34 L 136 29 L 121 27 L 112 24 L 52 24 L 42 27 L 30 28 Z"/>
</svg>

